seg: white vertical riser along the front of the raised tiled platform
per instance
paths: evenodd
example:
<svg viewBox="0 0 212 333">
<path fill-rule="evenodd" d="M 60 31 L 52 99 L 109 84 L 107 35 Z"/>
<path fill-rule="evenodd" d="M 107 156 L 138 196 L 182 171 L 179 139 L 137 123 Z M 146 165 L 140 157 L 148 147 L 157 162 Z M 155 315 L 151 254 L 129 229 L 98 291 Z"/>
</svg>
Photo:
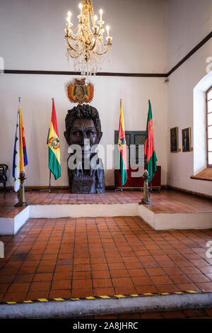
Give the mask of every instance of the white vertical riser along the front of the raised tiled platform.
<svg viewBox="0 0 212 333">
<path fill-rule="evenodd" d="M 29 205 L 15 218 L 0 218 L 0 235 L 16 235 L 28 218 L 140 216 L 154 230 L 210 229 L 210 213 L 153 213 L 139 203 Z"/>
</svg>

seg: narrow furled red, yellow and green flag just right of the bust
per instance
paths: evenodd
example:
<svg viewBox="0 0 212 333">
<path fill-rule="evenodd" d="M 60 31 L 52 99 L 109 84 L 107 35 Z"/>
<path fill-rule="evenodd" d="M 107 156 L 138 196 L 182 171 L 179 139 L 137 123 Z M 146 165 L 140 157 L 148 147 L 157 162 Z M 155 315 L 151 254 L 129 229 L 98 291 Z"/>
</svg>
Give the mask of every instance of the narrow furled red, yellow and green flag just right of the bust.
<svg viewBox="0 0 212 333">
<path fill-rule="evenodd" d="M 120 173 L 121 173 L 121 186 L 124 186 L 127 181 L 126 172 L 126 138 L 124 132 L 124 114 L 122 108 L 122 100 L 120 100 L 120 119 L 119 119 L 119 138 L 118 149 L 120 152 Z"/>
</svg>

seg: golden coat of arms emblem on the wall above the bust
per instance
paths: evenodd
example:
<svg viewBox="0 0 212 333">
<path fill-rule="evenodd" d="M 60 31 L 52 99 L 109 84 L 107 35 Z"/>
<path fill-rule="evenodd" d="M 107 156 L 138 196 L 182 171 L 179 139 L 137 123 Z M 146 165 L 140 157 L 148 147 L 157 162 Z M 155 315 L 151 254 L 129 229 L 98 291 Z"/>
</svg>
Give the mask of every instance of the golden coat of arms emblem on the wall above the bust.
<svg viewBox="0 0 212 333">
<path fill-rule="evenodd" d="M 68 96 L 71 103 L 90 103 L 93 100 L 93 85 L 86 84 L 86 79 L 74 79 L 68 86 Z"/>
</svg>

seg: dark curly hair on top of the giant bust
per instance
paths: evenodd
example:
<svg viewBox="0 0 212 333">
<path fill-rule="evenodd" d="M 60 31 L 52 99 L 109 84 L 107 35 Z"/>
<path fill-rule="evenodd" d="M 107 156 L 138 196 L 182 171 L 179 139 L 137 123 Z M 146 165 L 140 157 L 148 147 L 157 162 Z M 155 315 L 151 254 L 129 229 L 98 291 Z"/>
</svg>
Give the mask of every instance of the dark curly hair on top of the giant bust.
<svg viewBox="0 0 212 333">
<path fill-rule="evenodd" d="M 88 104 L 83 104 L 82 106 L 74 106 L 68 111 L 66 115 L 66 132 L 64 132 L 65 137 L 69 137 L 73 122 L 76 119 L 92 119 L 95 125 L 98 135 L 101 132 L 100 116 L 96 108 Z"/>
</svg>

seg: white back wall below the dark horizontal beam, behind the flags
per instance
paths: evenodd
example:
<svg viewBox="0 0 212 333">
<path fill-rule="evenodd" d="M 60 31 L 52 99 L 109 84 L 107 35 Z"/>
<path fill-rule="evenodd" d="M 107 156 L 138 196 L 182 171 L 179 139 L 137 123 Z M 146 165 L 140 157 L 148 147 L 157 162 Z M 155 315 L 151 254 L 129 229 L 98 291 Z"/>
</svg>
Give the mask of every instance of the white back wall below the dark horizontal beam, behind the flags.
<svg viewBox="0 0 212 333">
<path fill-rule="evenodd" d="M 66 76 L 47 75 L 0 75 L 1 105 L 1 161 L 9 166 L 8 186 L 13 184 L 11 178 L 13 144 L 16 128 L 17 101 L 22 96 L 25 139 L 28 150 L 28 166 L 26 174 L 27 186 L 43 186 L 48 184 L 47 169 L 47 131 L 52 112 L 51 98 L 54 96 L 59 138 L 61 143 L 61 178 L 53 181 L 54 185 L 68 185 L 66 159 L 68 145 L 64 139 L 66 112 L 75 104 L 70 104 L 64 90 Z M 155 150 L 158 165 L 162 166 L 162 181 L 166 184 L 166 135 L 164 123 L 167 117 L 167 87 L 163 78 L 114 78 L 95 77 L 95 97 L 91 105 L 98 108 L 102 123 L 102 145 L 114 143 L 114 130 L 119 127 L 119 98 L 122 98 L 125 130 L 146 130 L 148 98 L 153 109 L 153 125 L 155 132 Z M 105 171 L 106 185 L 114 184 L 114 172 Z"/>
</svg>

